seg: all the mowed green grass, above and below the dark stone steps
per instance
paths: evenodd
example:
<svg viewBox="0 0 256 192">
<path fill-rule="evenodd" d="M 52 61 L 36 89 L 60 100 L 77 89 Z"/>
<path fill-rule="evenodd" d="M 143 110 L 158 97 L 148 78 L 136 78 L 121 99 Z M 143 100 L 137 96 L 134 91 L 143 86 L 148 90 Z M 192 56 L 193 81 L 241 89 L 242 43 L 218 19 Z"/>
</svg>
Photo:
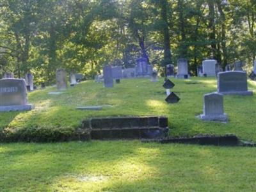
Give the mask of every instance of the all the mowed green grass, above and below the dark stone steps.
<svg viewBox="0 0 256 192">
<path fill-rule="evenodd" d="M 225 96 L 227 124 L 201 122 L 195 116 L 202 113 L 203 95 L 216 91 L 216 79 L 171 80 L 178 104 L 164 101 L 163 79 L 124 79 L 111 89 L 86 81 L 61 95 L 47 94 L 55 88 L 38 90 L 29 93 L 33 111 L 0 113 L 0 129 L 6 135 L 36 136 L 72 132 L 92 116 L 165 115 L 170 136 L 232 133 L 256 142 L 256 95 Z M 255 91 L 256 83 L 248 84 Z M 104 109 L 75 109 L 92 105 Z M 0 191 L 255 191 L 255 159 L 256 148 L 245 147 L 140 141 L 1 143 Z"/>
</svg>

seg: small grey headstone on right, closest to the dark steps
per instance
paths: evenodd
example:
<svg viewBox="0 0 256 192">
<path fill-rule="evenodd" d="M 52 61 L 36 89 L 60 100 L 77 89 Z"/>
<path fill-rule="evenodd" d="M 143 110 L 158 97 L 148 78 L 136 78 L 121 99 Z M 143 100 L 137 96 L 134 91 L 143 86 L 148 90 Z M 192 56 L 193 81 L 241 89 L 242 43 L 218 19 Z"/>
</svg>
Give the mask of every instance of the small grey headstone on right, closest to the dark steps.
<svg viewBox="0 0 256 192">
<path fill-rule="evenodd" d="M 227 122 L 227 115 L 223 109 L 223 95 L 220 93 L 208 93 L 204 95 L 204 114 L 202 120 Z"/>
</svg>

